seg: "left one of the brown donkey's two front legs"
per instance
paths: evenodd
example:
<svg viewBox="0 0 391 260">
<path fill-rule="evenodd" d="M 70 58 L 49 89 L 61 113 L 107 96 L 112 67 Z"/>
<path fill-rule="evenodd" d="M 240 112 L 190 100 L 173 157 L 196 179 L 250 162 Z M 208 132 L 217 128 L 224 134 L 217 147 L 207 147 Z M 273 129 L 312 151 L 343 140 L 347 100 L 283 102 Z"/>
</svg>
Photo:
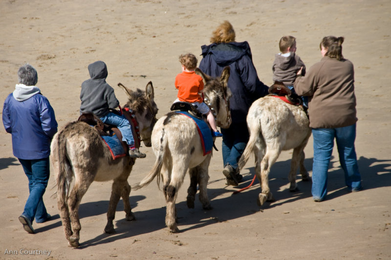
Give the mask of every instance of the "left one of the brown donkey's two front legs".
<svg viewBox="0 0 391 260">
<path fill-rule="evenodd" d="M 109 210 L 107 212 L 107 224 L 105 227 L 105 232 L 112 234 L 115 233 L 113 220 L 115 217 L 115 210 L 117 208 L 119 199 L 121 198 L 121 194 L 123 189 L 126 189 L 126 186 L 129 185 L 128 182 L 124 182 L 120 179 L 115 179 L 112 186 L 111 186 L 111 196 L 109 201 Z M 129 195 L 128 195 L 128 201 L 129 201 Z"/>
</svg>

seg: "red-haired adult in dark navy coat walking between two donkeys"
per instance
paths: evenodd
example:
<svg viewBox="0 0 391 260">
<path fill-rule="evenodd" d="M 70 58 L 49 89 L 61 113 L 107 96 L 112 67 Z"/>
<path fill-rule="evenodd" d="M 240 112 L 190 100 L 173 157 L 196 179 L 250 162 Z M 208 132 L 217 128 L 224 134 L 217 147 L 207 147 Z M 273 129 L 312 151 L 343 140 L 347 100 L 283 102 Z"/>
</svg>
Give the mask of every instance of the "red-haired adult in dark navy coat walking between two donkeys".
<svg viewBox="0 0 391 260">
<path fill-rule="evenodd" d="M 235 31 L 224 21 L 213 32 L 211 45 L 203 45 L 199 68 L 206 74 L 217 77 L 224 67 L 231 69 L 228 87 L 232 92 L 230 110 L 232 124 L 221 129 L 223 134 L 222 154 L 227 184 L 238 186 L 242 176 L 237 172 L 238 161 L 249 139 L 246 124 L 248 109 L 258 98 L 268 94 L 268 87 L 258 78 L 250 46 L 247 42 L 235 42 Z"/>
</svg>

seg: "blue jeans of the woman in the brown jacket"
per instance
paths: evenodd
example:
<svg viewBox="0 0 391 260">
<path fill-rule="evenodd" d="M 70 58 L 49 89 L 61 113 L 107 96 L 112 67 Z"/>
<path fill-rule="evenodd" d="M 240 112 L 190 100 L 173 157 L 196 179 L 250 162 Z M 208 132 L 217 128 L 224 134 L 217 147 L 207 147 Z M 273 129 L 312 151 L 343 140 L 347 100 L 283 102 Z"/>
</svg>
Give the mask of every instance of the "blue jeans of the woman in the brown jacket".
<svg viewBox="0 0 391 260">
<path fill-rule="evenodd" d="M 312 196 L 322 201 L 327 193 L 327 170 L 334 146 L 337 143 L 339 161 L 345 172 L 348 190 L 361 189 L 361 175 L 358 171 L 357 156 L 354 148 L 356 124 L 339 128 L 313 128 L 314 162 L 312 166 Z"/>
</svg>

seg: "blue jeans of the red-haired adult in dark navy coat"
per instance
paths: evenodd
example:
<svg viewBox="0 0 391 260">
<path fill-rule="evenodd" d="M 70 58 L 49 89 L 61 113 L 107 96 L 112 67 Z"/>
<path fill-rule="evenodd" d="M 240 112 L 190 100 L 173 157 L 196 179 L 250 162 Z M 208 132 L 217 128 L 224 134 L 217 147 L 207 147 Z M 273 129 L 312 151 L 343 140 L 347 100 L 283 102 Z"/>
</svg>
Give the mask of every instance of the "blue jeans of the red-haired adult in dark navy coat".
<svg viewBox="0 0 391 260">
<path fill-rule="evenodd" d="M 237 169 L 240 156 L 243 154 L 250 138 L 247 123 L 232 123 L 229 128 L 221 128 L 221 133 L 223 134 L 221 150 L 224 167 L 231 165 L 234 169 Z"/>
</svg>

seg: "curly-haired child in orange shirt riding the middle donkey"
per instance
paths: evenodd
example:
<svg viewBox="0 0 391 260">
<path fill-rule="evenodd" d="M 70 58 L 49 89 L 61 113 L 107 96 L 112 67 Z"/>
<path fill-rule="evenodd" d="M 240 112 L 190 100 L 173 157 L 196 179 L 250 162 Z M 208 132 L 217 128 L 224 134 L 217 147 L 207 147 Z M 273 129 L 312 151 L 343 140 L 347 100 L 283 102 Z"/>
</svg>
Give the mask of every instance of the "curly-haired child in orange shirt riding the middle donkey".
<svg viewBox="0 0 391 260">
<path fill-rule="evenodd" d="M 182 72 L 175 77 L 175 88 L 178 89 L 178 98 L 174 101 L 188 102 L 203 115 L 206 115 L 213 133 L 213 137 L 222 137 L 223 135 L 217 130 L 216 120 L 209 107 L 203 102 L 201 94 L 204 89 L 204 82 L 200 75 L 195 74 L 197 67 L 197 58 L 195 55 L 188 53 L 179 56 L 179 62 L 182 65 Z"/>
</svg>

